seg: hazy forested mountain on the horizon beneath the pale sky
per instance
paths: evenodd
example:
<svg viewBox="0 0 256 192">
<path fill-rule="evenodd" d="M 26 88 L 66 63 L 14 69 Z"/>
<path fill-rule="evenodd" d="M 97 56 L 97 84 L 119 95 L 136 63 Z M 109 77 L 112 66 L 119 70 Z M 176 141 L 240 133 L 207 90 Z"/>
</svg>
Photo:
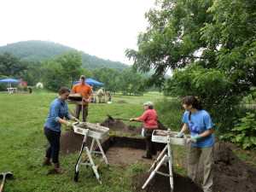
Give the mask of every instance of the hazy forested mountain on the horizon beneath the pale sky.
<svg viewBox="0 0 256 192">
<path fill-rule="evenodd" d="M 47 41 L 24 41 L 15 44 L 7 44 L 0 47 L 0 54 L 9 52 L 23 61 L 44 61 L 49 60 L 56 55 L 61 55 L 67 51 L 77 51 L 62 44 L 55 44 Z M 103 60 L 99 57 L 82 53 L 83 67 L 95 69 L 100 67 L 109 67 L 115 69 L 124 69 L 128 66 L 118 61 Z"/>
</svg>

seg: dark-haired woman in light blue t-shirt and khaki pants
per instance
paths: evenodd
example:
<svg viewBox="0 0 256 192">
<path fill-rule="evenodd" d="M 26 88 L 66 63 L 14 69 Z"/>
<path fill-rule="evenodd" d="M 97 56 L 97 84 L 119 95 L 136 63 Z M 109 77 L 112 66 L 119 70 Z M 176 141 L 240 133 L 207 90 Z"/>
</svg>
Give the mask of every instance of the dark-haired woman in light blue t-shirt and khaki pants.
<svg viewBox="0 0 256 192">
<path fill-rule="evenodd" d="M 204 164 L 202 189 L 204 192 L 212 192 L 214 134 L 211 116 L 201 108 L 201 103 L 195 96 L 185 96 L 182 103 L 186 111 L 183 113 L 182 130 L 177 137 L 183 137 L 185 131 L 190 131 L 188 176 L 195 182 L 197 166 L 202 156 Z"/>
</svg>

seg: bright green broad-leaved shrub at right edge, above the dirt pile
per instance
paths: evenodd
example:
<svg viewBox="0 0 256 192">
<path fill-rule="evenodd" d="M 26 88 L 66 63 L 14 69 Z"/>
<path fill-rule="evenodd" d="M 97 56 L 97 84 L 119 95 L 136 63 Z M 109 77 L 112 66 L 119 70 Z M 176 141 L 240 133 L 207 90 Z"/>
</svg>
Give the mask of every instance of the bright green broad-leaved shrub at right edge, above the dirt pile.
<svg viewBox="0 0 256 192">
<path fill-rule="evenodd" d="M 247 113 L 238 120 L 230 133 L 222 139 L 229 139 L 232 143 L 239 144 L 242 148 L 256 148 L 256 116 L 255 113 Z"/>
</svg>

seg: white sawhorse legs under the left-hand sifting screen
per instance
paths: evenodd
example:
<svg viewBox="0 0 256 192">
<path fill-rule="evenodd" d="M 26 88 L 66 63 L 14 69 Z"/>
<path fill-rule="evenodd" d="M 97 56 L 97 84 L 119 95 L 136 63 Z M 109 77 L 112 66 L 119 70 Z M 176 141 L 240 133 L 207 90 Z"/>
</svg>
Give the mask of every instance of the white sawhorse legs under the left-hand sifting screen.
<svg viewBox="0 0 256 192">
<path fill-rule="evenodd" d="M 100 179 L 100 175 L 97 171 L 99 165 L 95 165 L 91 155 L 92 154 L 102 154 L 102 161 L 105 161 L 105 163 L 107 165 L 108 165 L 108 160 L 107 160 L 107 157 L 106 157 L 106 155 L 105 155 L 105 153 L 102 149 L 102 145 L 101 145 L 99 139 L 96 139 L 96 138 L 92 137 L 92 142 L 91 142 L 91 145 L 90 145 L 90 149 L 86 146 L 86 139 L 87 139 L 88 131 L 89 131 L 89 129 L 86 129 L 85 134 L 84 134 L 84 140 L 83 140 L 83 143 L 82 143 L 82 147 L 81 147 L 80 153 L 79 153 L 79 159 L 77 160 L 77 163 L 76 163 L 76 166 L 75 166 L 74 181 L 75 182 L 79 181 L 79 166 L 90 166 L 92 168 L 92 171 L 94 172 L 98 182 L 102 183 L 102 181 Z M 100 151 L 95 151 L 94 150 L 95 144 L 100 149 Z M 84 162 L 82 162 L 83 152 L 85 152 L 86 157 L 87 157 L 84 160 Z"/>
</svg>

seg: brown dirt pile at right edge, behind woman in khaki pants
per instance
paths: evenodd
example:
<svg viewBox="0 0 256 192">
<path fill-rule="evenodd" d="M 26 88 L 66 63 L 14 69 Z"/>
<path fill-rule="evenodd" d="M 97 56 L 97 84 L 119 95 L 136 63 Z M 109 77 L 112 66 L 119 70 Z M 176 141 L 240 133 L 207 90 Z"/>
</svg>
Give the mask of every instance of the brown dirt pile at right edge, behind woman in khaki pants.
<svg viewBox="0 0 256 192">
<path fill-rule="evenodd" d="M 213 173 L 214 191 L 256 191 L 256 168 L 239 160 L 226 143 L 215 144 Z"/>
</svg>

